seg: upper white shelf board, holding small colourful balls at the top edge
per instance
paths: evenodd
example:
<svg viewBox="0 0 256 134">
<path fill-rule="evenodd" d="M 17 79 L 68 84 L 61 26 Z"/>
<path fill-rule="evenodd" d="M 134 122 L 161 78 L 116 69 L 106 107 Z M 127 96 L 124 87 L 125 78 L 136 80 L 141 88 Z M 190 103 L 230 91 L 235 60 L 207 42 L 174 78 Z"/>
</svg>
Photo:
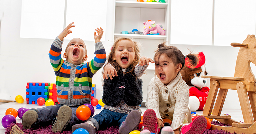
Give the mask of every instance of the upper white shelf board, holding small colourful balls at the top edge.
<svg viewBox="0 0 256 134">
<path fill-rule="evenodd" d="M 116 1 L 116 7 L 167 8 L 168 3 Z"/>
</svg>

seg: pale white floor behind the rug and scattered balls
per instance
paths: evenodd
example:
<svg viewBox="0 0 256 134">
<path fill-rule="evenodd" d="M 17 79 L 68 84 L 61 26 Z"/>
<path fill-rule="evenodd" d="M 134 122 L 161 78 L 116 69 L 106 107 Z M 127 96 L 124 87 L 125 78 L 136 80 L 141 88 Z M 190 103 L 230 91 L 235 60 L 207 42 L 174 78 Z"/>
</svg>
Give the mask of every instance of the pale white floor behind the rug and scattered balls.
<svg viewBox="0 0 256 134">
<path fill-rule="evenodd" d="M 9 103 L 0 103 L 0 120 L 2 122 L 2 118 L 5 115 L 5 111 L 10 108 L 13 107 L 15 109 L 19 109 L 20 107 L 26 107 L 26 108 L 40 108 L 40 107 L 44 107 L 43 106 L 39 106 L 37 104 L 27 104 L 27 103 L 17 103 L 17 102 L 9 102 Z M 99 114 L 100 113 L 100 109 L 96 109 L 96 106 L 94 107 L 95 112 L 94 114 Z M 101 108 L 102 109 L 102 108 Z M 146 107 L 141 107 L 142 112 L 144 113 L 146 111 Z M 196 111 L 196 114 L 202 114 L 203 111 Z M 231 115 L 231 118 L 236 120 L 236 121 L 240 121 L 243 122 L 243 116 L 242 116 L 242 111 L 241 109 L 223 109 L 222 113 L 228 113 Z M 143 115 L 143 114 L 141 114 Z M 17 116 L 16 117 L 17 122 L 21 122 L 21 119 Z M 0 125 L 0 134 L 4 134 L 5 132 L 5 128 L 2 126 L 2 124 Z"/>
</svg>

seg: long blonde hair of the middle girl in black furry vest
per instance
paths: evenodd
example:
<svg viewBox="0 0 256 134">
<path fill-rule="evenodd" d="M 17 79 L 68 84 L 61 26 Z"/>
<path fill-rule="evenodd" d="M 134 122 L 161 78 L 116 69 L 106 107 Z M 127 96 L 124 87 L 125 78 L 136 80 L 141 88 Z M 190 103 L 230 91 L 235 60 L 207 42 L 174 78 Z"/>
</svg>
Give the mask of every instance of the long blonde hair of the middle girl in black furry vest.
<svg viewBox="0 0 256 134">
<path fill-rule="evenodd" d="M 129 38 L 129 37 L 116 38 L 115 41 L 114 41 L 114 44 L 113 44 L 113 46 L 110 50 L 110 53 L 108 54 L 107 62 L 110 63 L 116 69 L 116 72 L 121 70 L 121 67 L 117 64 L 116 60 L 113 59 L 113 57 L 115 56 L 116 45 L 121 40 L 131 41 L 132 43 L 134 43 L 134 46 L 135 46 L 134 51 L 135 51 L 135 59 L 136 60 L 133 60 L 132 64 L 130 65 L 130 67 L 132 66 L 132 69 L 129 72 L 127 72 L 127 73 L 130 73 L 130 72 L 134 71 L 135 66 L 139 63 L 140 48 L 141 48 L 141 44 L 139 42 L 134 41 L 132 38 Z"/>
</svg>

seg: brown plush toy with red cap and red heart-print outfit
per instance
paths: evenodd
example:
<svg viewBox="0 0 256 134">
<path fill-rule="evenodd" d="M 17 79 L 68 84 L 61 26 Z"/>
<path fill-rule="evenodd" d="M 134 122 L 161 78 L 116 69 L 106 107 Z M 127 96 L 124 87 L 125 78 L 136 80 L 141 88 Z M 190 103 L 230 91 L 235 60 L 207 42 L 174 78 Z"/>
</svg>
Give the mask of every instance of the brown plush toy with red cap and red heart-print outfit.
<svg viewBox="0 0 256 134">
<path fill-rule="evenodd" d="M 189 86 L 189 103 L 190 111 L 201 110 L 206 103 L 206 99 L 209 93 L 209 88 L 206 87 L 207 79 L 201 78 L 203 65 L 205 65 L 205 56 L 203 52 L 196 52 L 198 62 L 196 67 L 188 65 L 188 58 L 185 59 L 185 66 L 181 71 L 182 79 Z M 204 66 L 205 67 L 205 66 Z M 205 70 L 205 68 L 204 68 Z M 207 72 L 204 71 L 204 75 Z"/>
</svg>

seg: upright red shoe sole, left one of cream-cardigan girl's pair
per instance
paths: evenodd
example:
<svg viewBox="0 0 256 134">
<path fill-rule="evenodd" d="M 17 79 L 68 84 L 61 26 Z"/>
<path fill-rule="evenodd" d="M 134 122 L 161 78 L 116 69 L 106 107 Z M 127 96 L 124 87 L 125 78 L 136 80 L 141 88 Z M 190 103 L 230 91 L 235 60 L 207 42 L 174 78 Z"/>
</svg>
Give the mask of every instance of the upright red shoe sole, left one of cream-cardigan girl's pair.
<svg viewBox="0 0 256 134">
<path fill-rule="evenodd" d="M 153 109 L 148 109 L 143 114 L 143 129 L 147 129 L 152 133 L 157 134 L 156 112 Z"/>
</svg>

